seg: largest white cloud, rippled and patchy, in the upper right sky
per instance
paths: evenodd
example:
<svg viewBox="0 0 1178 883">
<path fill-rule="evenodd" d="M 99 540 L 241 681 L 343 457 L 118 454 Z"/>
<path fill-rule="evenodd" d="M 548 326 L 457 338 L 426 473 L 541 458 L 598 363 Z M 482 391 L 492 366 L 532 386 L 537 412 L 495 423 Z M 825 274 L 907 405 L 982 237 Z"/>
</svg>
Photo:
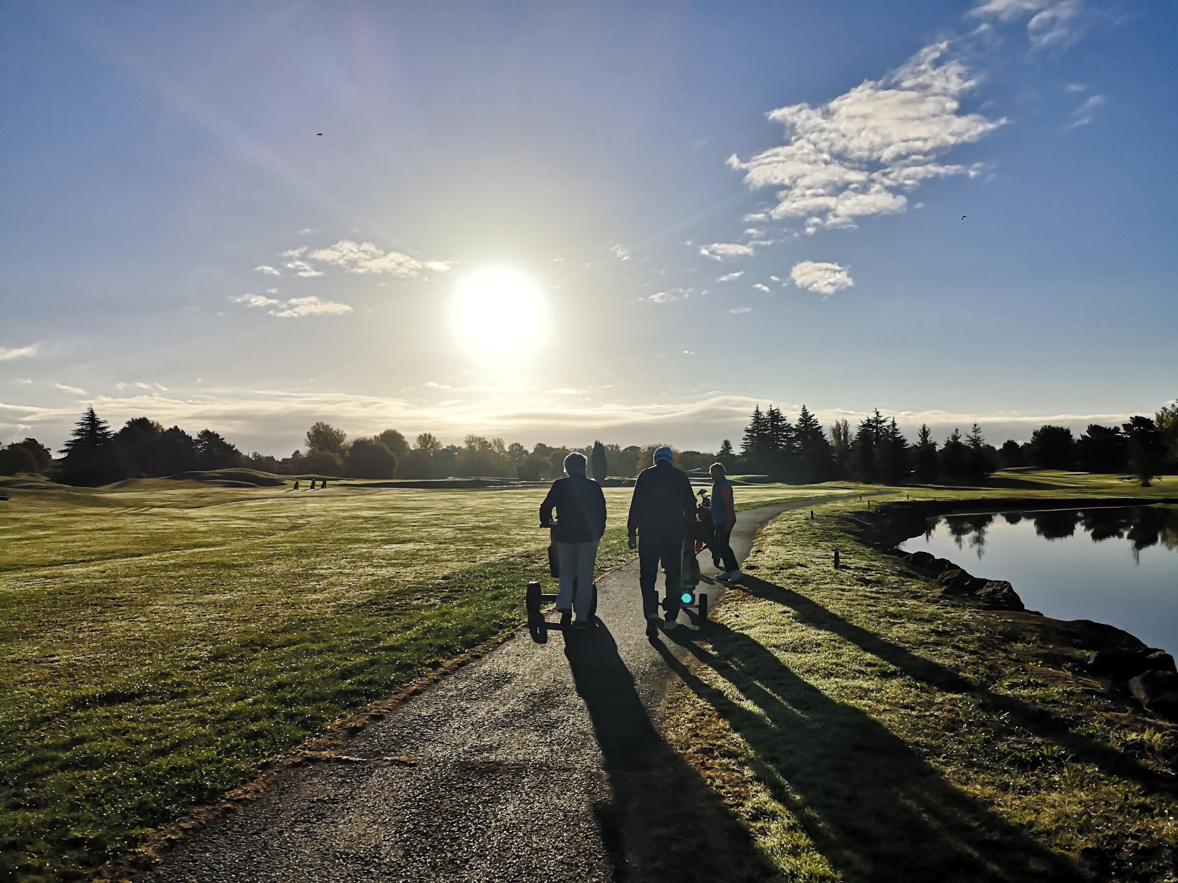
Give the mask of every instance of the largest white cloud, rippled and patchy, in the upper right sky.
<svg viewBox="0 0 1178 883">
<path fill-rule="evenodd" d="M 728 165 L 744 172 L 749 187 L 779 188 L 769 215 L 803 219 L 808 233 L 904 212 L 908 200 L 899 191 L 925 180 L 977 174 L 978 165 L 935 160 L 1006 120 L 961 113 L 960 98 L 978 80 L 959 59 L 945 58 L 947 49 L 947 41 L 927 46 L 882 79 L 865 80 L 825 105 L 769 112 L 788 141 L 747 161 L 733 154 Z"/>
</svg>

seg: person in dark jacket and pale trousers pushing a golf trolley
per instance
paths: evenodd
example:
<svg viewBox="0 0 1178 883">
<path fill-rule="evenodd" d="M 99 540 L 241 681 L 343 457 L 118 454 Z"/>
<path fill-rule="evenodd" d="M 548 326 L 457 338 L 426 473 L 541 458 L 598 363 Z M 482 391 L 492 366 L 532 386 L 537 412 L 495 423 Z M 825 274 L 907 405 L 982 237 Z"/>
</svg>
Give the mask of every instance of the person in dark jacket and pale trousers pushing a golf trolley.
<svg viewBox="0 0 1178 883">
<path fill-rule="evenodd" d="M 601 485 L 585 477 L 584 454 L 570 453 L 564 458 L 564 478 L 552 482 L 552 486 L 540 504 L 540 524 L 552 524 L 556 510 L 556 555 L 561 570 L 561 591 L 556 596 L 556 609 L 562 620 L 568 620 L 575 610 L 574 628 L 589 626 L 589 606 L 593 603 L 594 565 L 597 562 L 597 545 L 605 532 L 605 494 Z M 577 584 L 573 597 L 573 583 Z"/>
</svg>

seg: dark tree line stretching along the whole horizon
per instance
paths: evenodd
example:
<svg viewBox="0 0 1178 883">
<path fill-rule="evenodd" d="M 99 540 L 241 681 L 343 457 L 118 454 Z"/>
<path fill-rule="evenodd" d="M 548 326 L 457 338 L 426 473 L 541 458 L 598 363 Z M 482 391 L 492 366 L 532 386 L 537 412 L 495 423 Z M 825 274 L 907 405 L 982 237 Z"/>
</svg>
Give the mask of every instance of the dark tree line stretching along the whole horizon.
<svg viewBox="0 0 1178 883">
<path fill-rule="evenodd" d="M 445 445 L 431 432 L 419 433 L 410 444 L 393 429 L 349 439 L 343 430 L 318 421 L 306 431 L 304 447 L 279 460 L 258 452 L 243 453 L 210 429 L 193 437 L 179 426 L 164 429 L 147 417 L 127 420 L 115 431 L 87 407 L 59 459 L 37 439 L 26 438 L 0 449 L 0 474 L 46 473 L 66 484 L 102 485 L 124 478 L 251 467 L 292 476 L 537 482 L 560 476 L 564 458 L 580 451 L 590 460 L 591 473 L 604 479 L 637 474 L 650 464 L 657 446 L 595 442 L 584 447 L 541 443 L 528 449 L 518 442 L 505 444 L 502 438 L 474 434 L 461 445 Z M 886 418 L 879 410 L 854 427 L 841 419 L 827 431 L 805 405 L 793 420 L 775 406 L 762 411 L 757 405 L 744 427 L 740 452 L 724 439 L 716 453 L 676 453 L 677 464 L 687 470 L 707 469 L 714 460 L 730 473 L 794 484 L 835 479 L 979 483 L 995 469 L 1017 466 L 1131 473 L 1147 484 L 1158 474 L 1178 471 L 1178 404 L 1163 407 L 1153 418 L 1137 416 L 1120 426 L 1091 424 L 1079 438 L 1066 426 L 1044 425 L 1032 432 L 1030 442 L 1007 440 L 998 449 L 986 442 L 978 424 L 964 436 L 954 429 L 942 443 L 921 425 L 915 443 L 911 443 L 895 418 Z"/>
</svg>

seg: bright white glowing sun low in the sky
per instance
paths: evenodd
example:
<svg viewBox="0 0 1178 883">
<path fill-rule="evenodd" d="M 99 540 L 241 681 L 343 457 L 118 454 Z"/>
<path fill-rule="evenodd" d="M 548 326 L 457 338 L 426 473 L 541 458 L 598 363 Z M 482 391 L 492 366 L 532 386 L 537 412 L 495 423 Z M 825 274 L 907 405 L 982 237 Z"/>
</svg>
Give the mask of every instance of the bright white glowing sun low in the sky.
<svg viewBox="0 0 1178 883">
<path fill-rule="evenodd" d="M 510 270 L 484 270 L 462 280 L 456 320 L 462 336 L 478 350 L 519 353 L 540 340 L 544 304 L 540 288 Z"/>
</svg>

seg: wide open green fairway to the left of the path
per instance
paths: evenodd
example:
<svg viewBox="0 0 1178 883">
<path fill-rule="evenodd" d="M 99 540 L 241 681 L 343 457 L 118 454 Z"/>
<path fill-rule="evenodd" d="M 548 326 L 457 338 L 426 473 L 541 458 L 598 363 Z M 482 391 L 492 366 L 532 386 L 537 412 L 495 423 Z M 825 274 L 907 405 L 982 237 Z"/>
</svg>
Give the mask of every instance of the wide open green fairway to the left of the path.
<svg viewBox="0 0 1178 883">
<path fill-rule="evenodd" d="M 848 485 L 737 490 L 742 505 Z M 602 567 L 629 557 L 607 489 Z M 543 489 L 0 484 L 0 878 L 126 854 L 514 629 Z"/>
</svg>

